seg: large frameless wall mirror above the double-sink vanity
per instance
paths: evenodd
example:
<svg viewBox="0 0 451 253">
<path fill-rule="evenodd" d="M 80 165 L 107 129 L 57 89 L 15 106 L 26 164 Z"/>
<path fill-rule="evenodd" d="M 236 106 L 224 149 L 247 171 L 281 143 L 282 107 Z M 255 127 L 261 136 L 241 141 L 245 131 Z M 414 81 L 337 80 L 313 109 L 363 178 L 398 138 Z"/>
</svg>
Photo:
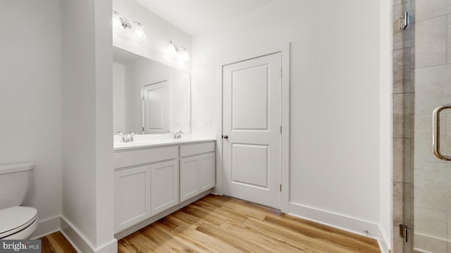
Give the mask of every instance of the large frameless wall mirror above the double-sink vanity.
<svg viewBox="0 0 451 253">
<path fill-rule="evenodd" d="M 113 130 L 190 133 L 190 73 L 113 46 Z"/>
</svg>

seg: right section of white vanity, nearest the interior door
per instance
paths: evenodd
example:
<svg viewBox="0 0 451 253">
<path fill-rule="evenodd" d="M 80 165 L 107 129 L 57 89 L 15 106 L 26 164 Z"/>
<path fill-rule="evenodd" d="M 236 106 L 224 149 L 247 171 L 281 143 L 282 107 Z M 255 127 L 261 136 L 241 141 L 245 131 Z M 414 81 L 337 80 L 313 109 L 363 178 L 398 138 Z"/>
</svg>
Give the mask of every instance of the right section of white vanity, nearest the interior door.
<svg viewBox="0 0 451 253">
<path fill-rule="evenodd" d="M 180 146 L 180 202 L 215 186 L 215 143 Z"/>
</svg>

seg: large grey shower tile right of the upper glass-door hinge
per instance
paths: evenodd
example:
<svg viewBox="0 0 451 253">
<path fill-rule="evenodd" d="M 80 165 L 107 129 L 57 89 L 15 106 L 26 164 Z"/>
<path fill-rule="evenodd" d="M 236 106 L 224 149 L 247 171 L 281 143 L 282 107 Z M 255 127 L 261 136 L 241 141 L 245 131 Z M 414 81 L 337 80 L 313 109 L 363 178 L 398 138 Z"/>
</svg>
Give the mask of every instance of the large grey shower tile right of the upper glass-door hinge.
<svg viewBox="0 0 451 253">
<path fill-rule="evenodd" d="M 447 63 L 447 17 L 417 21 L 415 24 L 415 67 Z"/>
</svg>

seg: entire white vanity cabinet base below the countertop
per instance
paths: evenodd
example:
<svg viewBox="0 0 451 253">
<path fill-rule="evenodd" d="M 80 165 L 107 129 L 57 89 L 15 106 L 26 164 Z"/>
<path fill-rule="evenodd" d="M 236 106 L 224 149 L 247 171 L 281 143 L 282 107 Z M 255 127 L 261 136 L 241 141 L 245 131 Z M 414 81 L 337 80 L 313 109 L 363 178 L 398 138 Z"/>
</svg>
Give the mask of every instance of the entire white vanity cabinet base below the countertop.
<svg viewBox="0 0 451 253">
<path fill-rule="evenodd" d="M 204 141 L 115 150 L 115 233 L 125 236 L 189 204 L 185 200 L 208 194 L 215 186 L 215 145 Z"/>
</svg>

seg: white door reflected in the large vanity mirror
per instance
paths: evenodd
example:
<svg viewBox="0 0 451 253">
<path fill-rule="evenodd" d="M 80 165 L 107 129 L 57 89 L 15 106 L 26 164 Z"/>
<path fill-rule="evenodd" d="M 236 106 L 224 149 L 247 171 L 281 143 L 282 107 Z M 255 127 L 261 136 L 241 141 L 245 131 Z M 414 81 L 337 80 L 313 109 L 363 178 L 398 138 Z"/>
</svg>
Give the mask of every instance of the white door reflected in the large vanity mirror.
<svg viewBox="0 0 451 253">
<path fill-rule="evenodd" d="M 142 87 L 142 124 L 144 134 L 169 131 L 168 81 Z"/>
</svg>

